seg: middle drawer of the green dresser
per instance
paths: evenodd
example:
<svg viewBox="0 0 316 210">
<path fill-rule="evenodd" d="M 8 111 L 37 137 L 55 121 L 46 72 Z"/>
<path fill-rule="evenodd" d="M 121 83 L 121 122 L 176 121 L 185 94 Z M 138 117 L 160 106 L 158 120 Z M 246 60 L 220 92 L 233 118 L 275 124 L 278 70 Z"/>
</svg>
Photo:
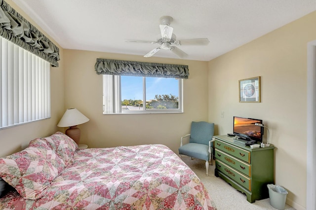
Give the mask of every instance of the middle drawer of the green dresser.
<svg viewBox="0 0 316 210">
<path fill-rule="evenodd" d="M 244 175 L 251 177 L 251 166 L 245 162 L 238 160 L 237 158 L 222 152 L 221 150 L 215 150 L 215 157 L 218 160 L 221 160 L 223 163 L 233 167 L 237 171 L 241 172 Z"/>
</svg>

